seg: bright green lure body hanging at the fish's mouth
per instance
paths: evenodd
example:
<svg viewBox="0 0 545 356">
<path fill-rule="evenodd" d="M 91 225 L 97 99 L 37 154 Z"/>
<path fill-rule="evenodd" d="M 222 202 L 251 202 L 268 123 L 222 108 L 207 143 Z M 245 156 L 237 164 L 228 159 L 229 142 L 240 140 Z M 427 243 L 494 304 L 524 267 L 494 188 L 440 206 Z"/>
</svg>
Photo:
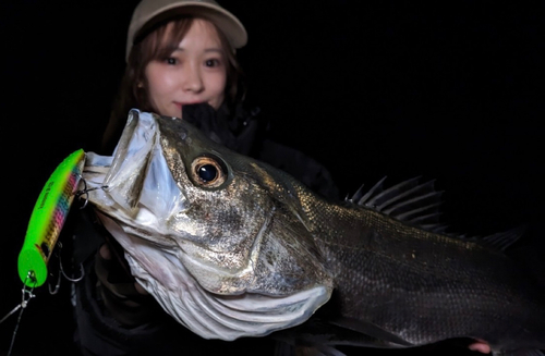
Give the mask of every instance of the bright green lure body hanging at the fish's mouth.
<svg viewBox="0 0 545 356">
<path fill-rule="evenodd" d="M 47 263 L 57 244 L 82 176 L 85 152 L 78 149 L 53 171 L 38 196 L 19 254 L 19 277 L 31 287 L 47 279 Z"/>
</svg>

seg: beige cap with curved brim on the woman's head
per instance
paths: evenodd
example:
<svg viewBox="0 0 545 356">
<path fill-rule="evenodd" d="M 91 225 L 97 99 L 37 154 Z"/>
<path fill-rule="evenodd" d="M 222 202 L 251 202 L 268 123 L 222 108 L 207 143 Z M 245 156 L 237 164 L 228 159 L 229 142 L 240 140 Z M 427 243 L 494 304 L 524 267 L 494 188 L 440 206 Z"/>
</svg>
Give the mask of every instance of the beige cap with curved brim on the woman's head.
<svg viewBox="0 0 545 356">
<path fill-rule="evenodd" d="M 202 15 L 218 26 L 233 48 L 246 45 L 247 34 L 242 23 L 214 0 L 142 0 L 134 9 L 129 25 L 125 60 L 134 39 L 143 29 L 178 14 Z"/>
</svg>

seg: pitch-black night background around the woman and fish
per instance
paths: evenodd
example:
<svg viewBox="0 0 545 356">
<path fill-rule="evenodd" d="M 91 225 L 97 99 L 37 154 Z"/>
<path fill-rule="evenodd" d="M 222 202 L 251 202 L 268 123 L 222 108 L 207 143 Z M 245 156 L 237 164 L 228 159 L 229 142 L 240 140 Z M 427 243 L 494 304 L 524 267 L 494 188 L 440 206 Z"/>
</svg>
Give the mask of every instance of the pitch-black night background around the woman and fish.
<svg viewBox="0 0 545 356">
<path fill-rule="evenodd" d="M 106 125 L 135 3 L 0 5 L 0 317 L 21 300 L 16 258 L 45 182 Z M 434 179 L 453 230 L 528 224 L 519 245 L 543 261 L 543 2 L 221 3 L 249 30 L 239 57 L 274 134 L 326 164 L 343 195 L 384 175 L 389 184 Z M 68 290 L 64 281 L 59 295 L 35 291 L 13 355 L 71 353 Z M 0 351 L 15 323 L 0 324 Z"/>
</svg>

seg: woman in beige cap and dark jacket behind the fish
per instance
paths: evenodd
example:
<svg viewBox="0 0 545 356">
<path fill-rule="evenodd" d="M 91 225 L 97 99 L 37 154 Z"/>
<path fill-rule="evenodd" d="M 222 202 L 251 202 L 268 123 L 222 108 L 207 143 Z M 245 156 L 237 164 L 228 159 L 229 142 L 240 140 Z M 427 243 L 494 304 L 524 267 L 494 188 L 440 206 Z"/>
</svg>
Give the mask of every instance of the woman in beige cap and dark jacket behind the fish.
<svg viewBox="0 0 545 356">
<path fill-rule="evenodd" d="M 244 108 L 243 73 L 235 49 L 246 38 L 240 21 L 213 0 L 138 3 L 129 27 L 125 74 L 98 151 L 111 155 L 131 108 L 183 116 L 210 138 L 288 171 L 318 194 L 337 198 L 325 168 L 267 139 L 258 110 Z M 71 228 L 74 265 L 83 263 L 85 269 L 83 281 L 74 284 L 73 298 L 76 342 L 83 354 L 194 354 L 215 347 L 255 354 L 256 346 L 249 344 L 262 348 L 270 343 L 261 339 L 204 341 L 174 322 L 134 282 L 121 247 L 92 209 L 83 211 Z"/>
</svg>

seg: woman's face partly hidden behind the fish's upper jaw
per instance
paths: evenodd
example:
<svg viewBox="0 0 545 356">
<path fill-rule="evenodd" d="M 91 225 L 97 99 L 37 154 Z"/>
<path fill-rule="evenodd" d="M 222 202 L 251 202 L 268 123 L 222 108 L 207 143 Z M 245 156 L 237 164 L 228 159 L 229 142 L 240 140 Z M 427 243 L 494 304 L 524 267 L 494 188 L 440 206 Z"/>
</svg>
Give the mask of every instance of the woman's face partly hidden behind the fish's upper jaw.
<svg viewBox="0 0 545 356">
<path fill-rule="evenodd" d="M 182 106 L 223 102 L 227 63 L 214 25 L 195 19 L 178 48 L 166 60 L 150 61 L 144 87 L 152 107 L 161 115 L 182 115 Z"/>
</svg>

